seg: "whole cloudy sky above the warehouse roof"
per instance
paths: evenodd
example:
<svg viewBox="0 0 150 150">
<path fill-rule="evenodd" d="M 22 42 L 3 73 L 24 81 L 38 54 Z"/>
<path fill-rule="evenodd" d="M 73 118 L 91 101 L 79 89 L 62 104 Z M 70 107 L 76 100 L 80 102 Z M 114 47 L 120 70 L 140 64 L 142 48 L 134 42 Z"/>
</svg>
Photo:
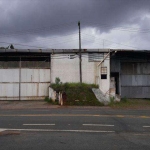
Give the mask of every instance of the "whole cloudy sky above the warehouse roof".
<svg viewBox="0 0 150 150">
<path fill-rule="evenodd" d="M 0 0 L 0 47 L 150 50 L 150 0 Z"/>
</svg>

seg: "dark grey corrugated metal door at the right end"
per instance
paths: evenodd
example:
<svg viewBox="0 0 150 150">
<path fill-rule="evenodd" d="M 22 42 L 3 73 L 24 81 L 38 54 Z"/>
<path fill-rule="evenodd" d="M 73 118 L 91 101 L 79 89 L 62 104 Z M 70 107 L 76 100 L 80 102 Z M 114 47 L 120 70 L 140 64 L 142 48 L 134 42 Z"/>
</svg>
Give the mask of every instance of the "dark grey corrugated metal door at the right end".
<svg viewBox="0 0 150 150">
<path fill-rule="evenodd" d="M 121 97 L 150 98 L 150 63 L 121 63 Z"/>
</svg>

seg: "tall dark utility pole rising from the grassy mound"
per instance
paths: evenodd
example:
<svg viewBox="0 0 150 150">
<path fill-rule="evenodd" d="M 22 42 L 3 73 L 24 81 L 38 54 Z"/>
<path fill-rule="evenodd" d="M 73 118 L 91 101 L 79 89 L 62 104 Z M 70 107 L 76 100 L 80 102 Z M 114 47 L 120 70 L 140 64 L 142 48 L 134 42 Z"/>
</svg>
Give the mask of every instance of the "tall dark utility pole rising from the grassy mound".
<svg viewBox="0 0 150 150">
<path fill-rule="evenodd" d="M 81 32 L 80 32 L 80 21 L 78 22 L 79 27 L 79 68 L 80 68 L 80 83 L 82 83 L 82 58 L 81 58 Z"/>
</svg>

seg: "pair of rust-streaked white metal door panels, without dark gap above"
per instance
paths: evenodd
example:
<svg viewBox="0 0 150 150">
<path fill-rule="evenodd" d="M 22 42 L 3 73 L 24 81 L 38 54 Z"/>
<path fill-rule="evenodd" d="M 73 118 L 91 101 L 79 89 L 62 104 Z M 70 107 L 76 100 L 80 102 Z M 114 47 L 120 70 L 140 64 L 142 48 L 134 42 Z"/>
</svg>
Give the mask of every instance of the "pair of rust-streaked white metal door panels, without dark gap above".
<svg viewBox="0 0 150 150">
<path fill-rule="evenodd" d="M 21 69 L 21 100 L 48 96 L 50 69 Z M 19 100 L 19 69 L 0 69 L 0 100 Z"/>
</svg>

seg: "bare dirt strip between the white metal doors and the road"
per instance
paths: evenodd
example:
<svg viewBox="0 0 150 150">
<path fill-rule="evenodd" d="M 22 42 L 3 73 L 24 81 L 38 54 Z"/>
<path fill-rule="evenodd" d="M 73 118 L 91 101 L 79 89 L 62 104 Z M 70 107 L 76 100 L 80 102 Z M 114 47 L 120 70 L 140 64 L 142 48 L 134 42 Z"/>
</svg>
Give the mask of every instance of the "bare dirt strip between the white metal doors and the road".
<svg viewBox="0 0 150 150">
<path fill-rule="evenodd" d="M 59 105 L 51 105 L 45 101 L 0 101 L 1 109 L 44 109 L 59 108 Z"/>
</svg>

